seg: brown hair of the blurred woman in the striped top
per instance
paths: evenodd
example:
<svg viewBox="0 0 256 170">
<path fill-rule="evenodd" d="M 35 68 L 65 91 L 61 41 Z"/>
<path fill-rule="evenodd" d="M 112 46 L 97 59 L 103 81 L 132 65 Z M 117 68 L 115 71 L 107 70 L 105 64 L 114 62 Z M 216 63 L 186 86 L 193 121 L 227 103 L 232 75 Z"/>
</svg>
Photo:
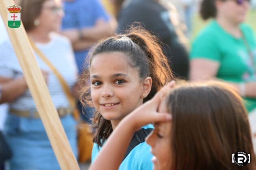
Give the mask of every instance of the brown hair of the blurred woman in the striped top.
<svg viewBox="0 0 256 170">
<path fill-rule="evenodd" d="M 34 21 L 39 17 L 42 11 L 43 3 L 47 0 L 21 0 L 22 7 L 21 20 L 26 31 L 32 30 L 35 25 Z"/>
</svg>

